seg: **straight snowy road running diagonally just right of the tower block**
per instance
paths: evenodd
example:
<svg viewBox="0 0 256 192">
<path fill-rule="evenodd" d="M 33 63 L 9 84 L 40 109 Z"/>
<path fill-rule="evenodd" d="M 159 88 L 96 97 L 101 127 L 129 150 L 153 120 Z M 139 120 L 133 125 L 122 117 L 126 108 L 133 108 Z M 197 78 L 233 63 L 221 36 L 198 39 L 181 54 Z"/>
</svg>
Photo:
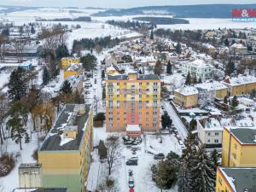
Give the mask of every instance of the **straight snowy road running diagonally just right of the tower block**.
<svg viewBox="0 0 256 192">
<path fill-rule="evenodd" d="M 183 125 L 183 122 L 179 117 L 177 116 L 177 113 L 175 112 L 174 108 L 169 102 L 162 102 L 166 108 L 167 113 L 170 115 L 172 119 L 173 125 L 177 128 L 177 132 L 184 141 L 184 139 L 188 136 L 188 131 L 186 127 Z"/>
</svg>

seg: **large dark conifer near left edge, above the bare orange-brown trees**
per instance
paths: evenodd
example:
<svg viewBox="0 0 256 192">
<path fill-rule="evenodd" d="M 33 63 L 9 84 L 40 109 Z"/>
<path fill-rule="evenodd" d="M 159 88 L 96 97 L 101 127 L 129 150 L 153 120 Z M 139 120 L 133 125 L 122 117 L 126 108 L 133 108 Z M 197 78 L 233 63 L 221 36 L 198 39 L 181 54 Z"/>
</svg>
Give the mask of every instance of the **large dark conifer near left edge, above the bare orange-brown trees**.
<svg viewBox="0 0 256 192">
<path fill-rule="evenodd" d="M 19 101 L 22 96 L 26 96 L 28 85 L 26 80 L 26 69 L 18 67 L 9 78 L 8 84 L 9 100 Z"/>
</svg>

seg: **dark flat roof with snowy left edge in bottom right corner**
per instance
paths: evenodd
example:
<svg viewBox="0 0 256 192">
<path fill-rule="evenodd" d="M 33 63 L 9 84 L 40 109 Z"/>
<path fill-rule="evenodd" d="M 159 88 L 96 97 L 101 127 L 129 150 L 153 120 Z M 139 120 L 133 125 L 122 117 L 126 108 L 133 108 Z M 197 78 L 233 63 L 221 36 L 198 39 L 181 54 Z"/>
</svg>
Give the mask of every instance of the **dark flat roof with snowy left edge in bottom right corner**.
<svg viewBox="0 0 256 192">
<path fill-rule="evenodd" d="M 256 168 L 224 168 L 219 167 L 224 177 L 236 192 L 256 191 Z M 247 190 L 246 190 L 247 189 Z"/>
</svg>

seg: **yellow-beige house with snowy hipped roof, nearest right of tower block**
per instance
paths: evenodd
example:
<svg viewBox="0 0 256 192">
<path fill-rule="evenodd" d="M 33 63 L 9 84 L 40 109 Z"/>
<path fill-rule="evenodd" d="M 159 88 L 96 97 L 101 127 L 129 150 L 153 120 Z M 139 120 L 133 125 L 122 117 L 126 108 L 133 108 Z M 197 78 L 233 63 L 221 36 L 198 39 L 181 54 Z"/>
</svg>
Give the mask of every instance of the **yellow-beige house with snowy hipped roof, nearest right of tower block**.
<svg viewBox="0 0 256 192">
<path fill-rule="evenodd" d="M 173 102 L 183 108 L 193 108 L 198 104 L 198 90 L 193 86 L 183 85 L 174 90 Z"/>
</svg>

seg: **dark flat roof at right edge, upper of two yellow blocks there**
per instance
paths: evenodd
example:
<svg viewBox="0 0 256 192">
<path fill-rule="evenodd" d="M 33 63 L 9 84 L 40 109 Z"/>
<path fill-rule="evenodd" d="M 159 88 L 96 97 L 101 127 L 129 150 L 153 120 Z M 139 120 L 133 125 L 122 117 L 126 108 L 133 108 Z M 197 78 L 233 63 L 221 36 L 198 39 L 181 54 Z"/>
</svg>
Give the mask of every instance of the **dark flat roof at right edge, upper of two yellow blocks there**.
<svg viewBox="0 0 256 192">
<path fill-rule="evenodd" d="M 256 144 L 256 128 L 235 128 L 230 129 L 231 133 L 241 142 L 246 144 Z"/>
</svg>

